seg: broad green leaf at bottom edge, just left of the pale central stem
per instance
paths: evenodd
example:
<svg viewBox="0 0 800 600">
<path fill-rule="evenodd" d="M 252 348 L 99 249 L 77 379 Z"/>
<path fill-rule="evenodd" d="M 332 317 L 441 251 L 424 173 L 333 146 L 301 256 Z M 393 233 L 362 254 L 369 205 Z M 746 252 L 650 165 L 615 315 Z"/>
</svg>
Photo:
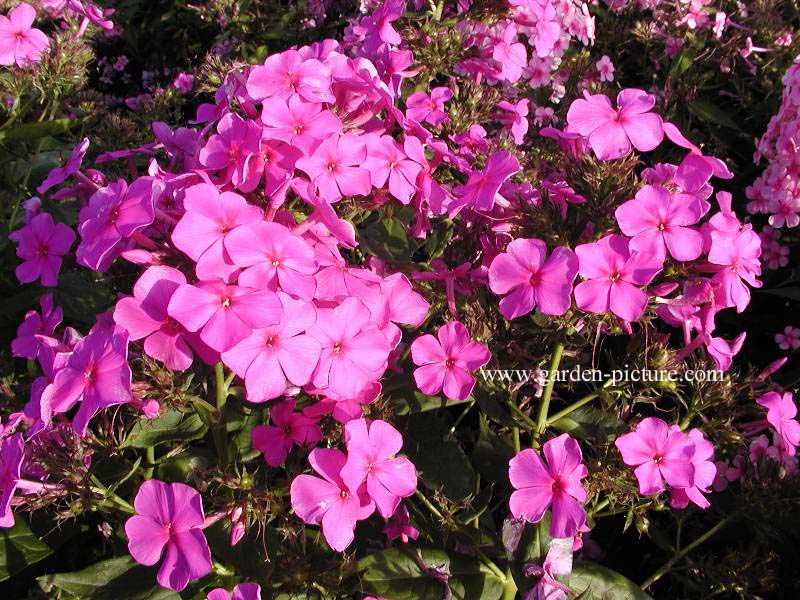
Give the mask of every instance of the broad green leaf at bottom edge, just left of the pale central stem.
<svg viewBox="0 0 800 600">
<path fill-rule="evenodd" d="M 423 567 L 428 570 L 426 572 Z M 441 600 L 445 583 L 431 571 L 449 573 L 456 600 L 496 600 L 502 581 L 475 558 L 433 548 L 390 548 L 358 561 L 363 591 L 386 600 Z"/>
</svg>

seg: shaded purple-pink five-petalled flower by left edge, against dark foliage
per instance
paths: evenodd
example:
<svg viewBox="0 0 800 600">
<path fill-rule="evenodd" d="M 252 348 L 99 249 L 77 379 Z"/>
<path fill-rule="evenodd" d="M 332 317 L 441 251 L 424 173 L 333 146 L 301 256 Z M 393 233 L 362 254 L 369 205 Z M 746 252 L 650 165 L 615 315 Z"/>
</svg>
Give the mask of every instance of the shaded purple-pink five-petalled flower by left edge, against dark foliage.
<svg viewBox="0 0 800 600">
<path fill-rule="evenodd" d="M 17 256 L 23 262 L 16 275 L 22 283 L 41 278 L 43 286 L 58 284 L 61 257 L 69 252 L 75 232 L 62 223 L 53 223 L 50 213 L 41 213 L 17 232 Z"/>
</svg>

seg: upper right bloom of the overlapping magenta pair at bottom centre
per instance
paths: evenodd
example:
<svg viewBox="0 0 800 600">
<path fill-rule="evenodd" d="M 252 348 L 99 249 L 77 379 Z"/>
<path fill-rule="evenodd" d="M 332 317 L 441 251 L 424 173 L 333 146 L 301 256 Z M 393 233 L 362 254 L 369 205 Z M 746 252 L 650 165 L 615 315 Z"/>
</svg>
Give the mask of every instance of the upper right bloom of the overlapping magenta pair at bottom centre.
<svg viewBox="0 0 800 600">
<path fill-rule="evenodd" d="M 403 436 L 386 421 L 353 419 L 344 426 L 347 462 L 342 480 L 351 490 L 366 480 L 367 493 L 384 519 L 417 489 L 417 470 L 405 457 L 395 456 L 403 447 Z"/>
</svg>

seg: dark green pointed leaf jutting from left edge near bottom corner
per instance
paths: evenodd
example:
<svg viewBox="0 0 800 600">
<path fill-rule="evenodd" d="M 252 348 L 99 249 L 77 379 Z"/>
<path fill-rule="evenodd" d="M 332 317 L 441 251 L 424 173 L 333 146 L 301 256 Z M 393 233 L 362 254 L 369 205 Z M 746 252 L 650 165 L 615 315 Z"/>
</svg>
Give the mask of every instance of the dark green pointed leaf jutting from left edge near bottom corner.
<svg viewBox="0 0 800 600">
<path fill-rule="evenodd" d="M 52 527 L 45 529 L 48 532 Z M 0 581 L 16 575 L 28 565 L 55 552 L 76 531 L 74 527 L 54 530 L 45 536 L 34 532 L 21 518 L 9 529 L 0 529 Z"/>
</svg>

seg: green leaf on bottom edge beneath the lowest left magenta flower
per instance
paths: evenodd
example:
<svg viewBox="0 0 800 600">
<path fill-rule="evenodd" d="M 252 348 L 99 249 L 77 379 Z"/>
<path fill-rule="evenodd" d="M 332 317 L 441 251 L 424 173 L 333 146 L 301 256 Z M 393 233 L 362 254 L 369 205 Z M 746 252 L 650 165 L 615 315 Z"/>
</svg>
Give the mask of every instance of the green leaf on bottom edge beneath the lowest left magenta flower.
<svg viewBox="0 0 800 600">
<path fill-rule="evenodd" d="M 45 593 L 62 590 L 81 600 L 180 600 L 180 595 L 156 583 L 155 569 L 130 557 L 112 558 L 82 571 L 43 575 L 37 579 Z"/>
</svg>

